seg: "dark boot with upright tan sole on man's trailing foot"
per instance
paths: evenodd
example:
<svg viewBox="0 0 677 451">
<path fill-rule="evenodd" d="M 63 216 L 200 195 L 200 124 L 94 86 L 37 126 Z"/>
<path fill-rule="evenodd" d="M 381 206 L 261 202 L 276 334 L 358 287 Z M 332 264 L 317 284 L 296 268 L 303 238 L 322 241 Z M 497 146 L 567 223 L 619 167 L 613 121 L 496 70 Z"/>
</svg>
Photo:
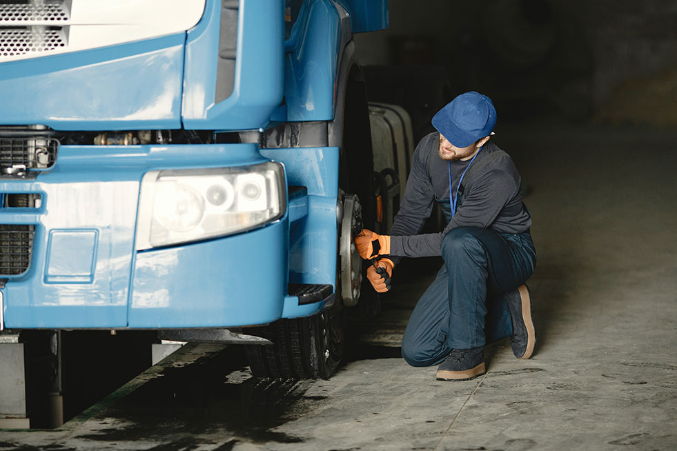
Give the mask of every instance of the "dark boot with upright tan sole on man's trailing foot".
<svg viewBox="0 0 677 451">
<path fill-rule="evenodd" d="M 518 359 L 529 359 L 536 343 L 536 330 L 531 321 L 531 294 L 527 285 L 502 294 L 513 320 L 513 334 L 510 343 Z"/>
</svg>

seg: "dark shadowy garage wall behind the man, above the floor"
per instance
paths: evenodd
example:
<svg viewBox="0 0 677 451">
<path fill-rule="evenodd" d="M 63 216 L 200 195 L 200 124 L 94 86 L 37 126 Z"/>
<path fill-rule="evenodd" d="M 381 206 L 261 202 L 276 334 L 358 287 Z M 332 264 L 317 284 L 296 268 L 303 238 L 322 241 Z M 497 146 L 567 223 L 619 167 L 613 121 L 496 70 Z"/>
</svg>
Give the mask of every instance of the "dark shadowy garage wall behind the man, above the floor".
<svg viewBox="0 0 677 451">
<path fill-rule="evenodd" d="M 438 66 L 523 118 L 677 126 L 677 0 L 390 0 L 366 65 Z M 504 116 L 506 117 L 506 116 Z"/>
</svg>

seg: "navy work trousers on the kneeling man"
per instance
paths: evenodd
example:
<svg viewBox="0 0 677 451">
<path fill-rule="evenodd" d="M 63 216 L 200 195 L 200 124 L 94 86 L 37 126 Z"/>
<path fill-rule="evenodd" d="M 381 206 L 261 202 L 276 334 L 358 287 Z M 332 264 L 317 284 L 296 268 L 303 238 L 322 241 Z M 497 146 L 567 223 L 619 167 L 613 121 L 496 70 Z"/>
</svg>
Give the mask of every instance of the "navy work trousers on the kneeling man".
<svg viewBox="0 0 677 451">
<path fill-rule="evenodd" d="M 413 366 L 435 365 L 451 349 L 477 348 L 512 334 L 499 296 L 526 282 L 536 265 L 529 232 L 498 234 L 458 227 L 442 241 L 444 266 L 419 299 L 402 339 Z"/>
</svg>

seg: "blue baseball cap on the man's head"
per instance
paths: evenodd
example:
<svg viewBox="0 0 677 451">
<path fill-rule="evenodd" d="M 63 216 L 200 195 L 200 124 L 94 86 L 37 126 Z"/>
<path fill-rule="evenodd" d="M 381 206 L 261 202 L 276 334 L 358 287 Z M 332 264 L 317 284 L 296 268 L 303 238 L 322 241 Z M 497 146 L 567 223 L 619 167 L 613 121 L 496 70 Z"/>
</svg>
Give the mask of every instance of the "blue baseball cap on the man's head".
<svg viewBox="0 0 677 451">
<path fill-rule="evenodd" d="M 456 147 L 488 137 L 495 126 L 496 108 L 491 99 L 475 91 L 460 94 L 433 116 L 433 127 Z"/>
</svg>

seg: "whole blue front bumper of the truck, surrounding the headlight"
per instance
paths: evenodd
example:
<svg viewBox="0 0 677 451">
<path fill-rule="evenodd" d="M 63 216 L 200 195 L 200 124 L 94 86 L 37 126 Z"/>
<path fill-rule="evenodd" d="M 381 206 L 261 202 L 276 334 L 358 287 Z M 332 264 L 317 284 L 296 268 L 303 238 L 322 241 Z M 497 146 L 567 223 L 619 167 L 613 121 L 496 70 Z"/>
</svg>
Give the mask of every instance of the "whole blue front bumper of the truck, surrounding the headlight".
<svg viewBox="0 0 677 451">
<path fill-rule="evenodd" d="M 28 207 L 0 208 L 5 243 L 16 247 L 30 234 L 21 241 L 30 257 L 25 270 L 9 268 L 1 276 L 5 327 L 225 326 L 279 318 L 286 294 L 286 214 L 227 237 L 135 247 L 139 188 L 147 172 L 264 161 L 254 144 L 61 146 L 50 172 L 3 180 L 3 197 L 39 199 Z"/>
</svg>

